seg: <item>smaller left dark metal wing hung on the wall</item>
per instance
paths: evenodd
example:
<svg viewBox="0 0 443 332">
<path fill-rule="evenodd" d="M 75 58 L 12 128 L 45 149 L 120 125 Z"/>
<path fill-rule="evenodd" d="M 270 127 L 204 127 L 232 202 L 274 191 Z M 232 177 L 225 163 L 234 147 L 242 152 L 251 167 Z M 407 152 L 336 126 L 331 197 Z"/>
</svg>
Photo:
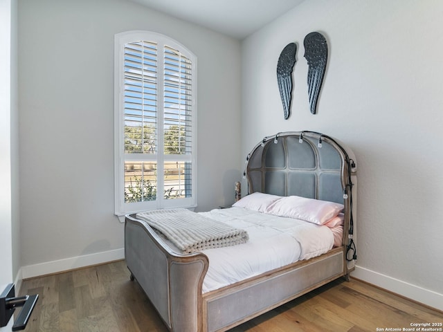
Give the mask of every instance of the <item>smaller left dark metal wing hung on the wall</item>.
<svg viewBox="0 0 443 332">
<path fill-rule="evenodd" d="M 287 120 L 291 113 L 292 68 L 296 64 L 296 51 L 295 43 L 287 44 L 277 62 L 277 82 L 283 103 L 284 120 Z"/>
</svg>

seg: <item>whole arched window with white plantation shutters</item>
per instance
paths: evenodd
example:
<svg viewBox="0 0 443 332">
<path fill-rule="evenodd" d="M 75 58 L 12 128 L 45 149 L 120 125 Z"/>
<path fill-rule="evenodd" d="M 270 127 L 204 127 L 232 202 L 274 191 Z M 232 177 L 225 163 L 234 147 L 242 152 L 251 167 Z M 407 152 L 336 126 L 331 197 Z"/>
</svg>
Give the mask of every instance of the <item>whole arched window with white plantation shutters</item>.
<svg viewBox="0 0 443 332">
<path fill-rule="evenodd" d="M 195 207 L 196 66 L 163 35 L 116 35 L 116 214 Z"/>
</svg>

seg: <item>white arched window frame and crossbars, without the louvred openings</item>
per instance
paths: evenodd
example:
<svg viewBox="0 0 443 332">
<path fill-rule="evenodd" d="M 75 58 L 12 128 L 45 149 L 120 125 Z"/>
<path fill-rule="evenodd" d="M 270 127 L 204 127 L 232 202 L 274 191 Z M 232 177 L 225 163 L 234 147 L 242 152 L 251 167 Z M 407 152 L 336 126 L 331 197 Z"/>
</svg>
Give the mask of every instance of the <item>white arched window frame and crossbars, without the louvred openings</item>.
<svg viewBox="0 0 443 332">
<path fill-rule="evenodd" d="M 125 44 L 137 40 L 144 40 L 149 42 L 156 42 L 158 44 L 158 86 L 161 90 L 158 91 L 157 100 L 157 149 L 156 157 L 148 154 L 140 154 L 129 156 L 125 158 Z M 191 155 L 168 155 L 163 153 L 163 46 L 169 46 L 188 57 L 192 62 L 192 138 L 191 138 Z M 161 148 L 160 148 L 161 147 Z M 163 165 L 168 160 L 188 160 L 192 165 L 191 169 L 191 196 L 189 198 L 181 199 L 163 199 L 163 196 L 158 195 L 154 201 L 143 201 L 137 203 L 125 203 L 124 188 L 125 188 L 125 160 L 141 160 L 141 161 L 156 161 L 157 172 L 163 173 Z M 163 187 L 163 176 L 157 175 L 157 187 Z M 163 191 L 163 190 L 162 190 Z M 127 31 L 118 33 L 114 37 L 114 209 L 117 216 L 123 216 L 129 213 L 136 213 L 145 210 L 154 210 L 161 208 L 195 208 L 197 206 L 197 57 L 188 48 L 175 41 L 174 39 L 154 33 L 151 31 Z"/>
</svg>

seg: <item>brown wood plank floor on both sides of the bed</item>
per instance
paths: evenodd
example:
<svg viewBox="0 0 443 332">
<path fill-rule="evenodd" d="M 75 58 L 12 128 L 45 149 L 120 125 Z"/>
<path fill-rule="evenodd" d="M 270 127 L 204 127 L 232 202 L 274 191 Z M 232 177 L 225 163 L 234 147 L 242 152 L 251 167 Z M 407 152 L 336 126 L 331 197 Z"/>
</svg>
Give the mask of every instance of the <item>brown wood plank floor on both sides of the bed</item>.
<svg viewBox="0 0 443 332">
<path fill-rule="evenodd" d="M 25 280 L 21 295 L 35 293 L 27 332 L 168 331 L 138 283 L 129 281 L 125 261 Z M 389 331 L 424 322 L 442 323 L 443 313 L 340 279 L 230 332 Z"/>
</svg>

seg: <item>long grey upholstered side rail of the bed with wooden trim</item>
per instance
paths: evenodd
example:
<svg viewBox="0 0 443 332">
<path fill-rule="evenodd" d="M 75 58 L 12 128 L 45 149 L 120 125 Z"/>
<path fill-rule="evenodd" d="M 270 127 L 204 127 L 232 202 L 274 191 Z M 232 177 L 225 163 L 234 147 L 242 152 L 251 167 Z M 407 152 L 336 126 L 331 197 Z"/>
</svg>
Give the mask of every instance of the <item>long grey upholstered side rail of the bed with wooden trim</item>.
<svg viewBox="0 0 443 332">
<path fill-rule="evenodd" d="M 226 331 L 344 275 L 344 249 L 204 294 L 204 331 Z"/>
</svg>

